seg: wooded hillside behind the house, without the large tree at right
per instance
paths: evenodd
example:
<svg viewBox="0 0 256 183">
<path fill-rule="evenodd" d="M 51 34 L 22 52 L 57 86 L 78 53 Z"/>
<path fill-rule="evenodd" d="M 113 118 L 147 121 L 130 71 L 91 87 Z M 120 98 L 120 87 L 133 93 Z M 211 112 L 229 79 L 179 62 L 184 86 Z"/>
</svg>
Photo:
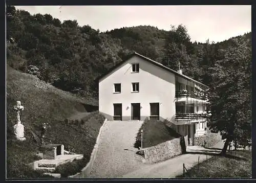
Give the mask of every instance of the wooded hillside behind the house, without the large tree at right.
<svg viewBox="0 0 256 183">
<path fill-rule="evenodd" d="M 167 22 L 168 24 L 168 22 Z M 234 38 L 250 39 L 251 33 Z M 7 7 L 7 64 L 27 72 L 39 68 L 40 79 L 82 97 L 98 98 L 98 76 L 132 52 L 154 59 L 174 70 L 180 63 L 183 73 L 208 85 L 208 68 L 221 59 L 219 50 L 233 45 L 223 42 L 191 42 L 185 26 L 169 31 L 153 26 L 136 26 L 100 32 L 76 20 L 31 15 Z"/>
</svg>

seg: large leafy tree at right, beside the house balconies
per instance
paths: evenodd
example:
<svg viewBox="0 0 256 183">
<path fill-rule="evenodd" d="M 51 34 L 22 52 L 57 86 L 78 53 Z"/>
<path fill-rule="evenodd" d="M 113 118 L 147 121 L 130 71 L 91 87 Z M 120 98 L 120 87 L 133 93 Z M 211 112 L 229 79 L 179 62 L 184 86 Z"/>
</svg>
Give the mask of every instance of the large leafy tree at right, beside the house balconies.
<svg viewBox="0 0 256 183">
<path fill-rule="evenodd" d="M 213 82 L 209 90 L 210 129 L 220 131 L 229 142 L 249 144 L 251 140 L 251 46 L 243 38 L 233 39 L 232 46 L 221 52 L 223 58 L 211 67 Z"/>
</svg>

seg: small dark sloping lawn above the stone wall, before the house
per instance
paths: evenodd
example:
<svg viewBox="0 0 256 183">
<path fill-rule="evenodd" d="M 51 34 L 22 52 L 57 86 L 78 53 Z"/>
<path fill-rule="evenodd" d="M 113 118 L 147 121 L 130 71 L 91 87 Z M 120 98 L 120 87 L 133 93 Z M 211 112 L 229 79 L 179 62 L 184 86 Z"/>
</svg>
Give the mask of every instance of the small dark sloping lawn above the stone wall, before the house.
<svg viewBox="0 0 256 183">
<path fill-rule="evenodd" d="M 141 146 L 141 130 L 143 129 L 143 148 L 152 147 L 157 144 L 179 138 L 175 130 L 165 125 L 162 121 L 145 120 L 137 133 L 134 147 Z"/>
</svg>

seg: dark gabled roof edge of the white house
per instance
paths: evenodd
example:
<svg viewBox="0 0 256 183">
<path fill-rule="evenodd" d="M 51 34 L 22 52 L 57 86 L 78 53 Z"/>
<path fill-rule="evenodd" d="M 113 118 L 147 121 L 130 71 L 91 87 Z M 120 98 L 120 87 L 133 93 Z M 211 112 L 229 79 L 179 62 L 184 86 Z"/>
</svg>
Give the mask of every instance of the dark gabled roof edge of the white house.
<svg viewBox="0 0 256 183">
<path fill-rule="evenodd" d="M 193 81 L 193 82 L 195 82 L 195 83 L 197 83 L 197 84 L 203 85 L 203 86 L 206 87 L 206 88 L 209 88 L 208 86 L 204 85 L 203 83 L 200 83 L 200 82 L 198 82 L 198 81 L 196 81 L 196 80 L 194 80 L 194 79 L 192 79 L 192 78 L 189 78 L 188 76 L 185 76 L 185 75 L 183 75 L 183 74 L 180 74 L 180 73 L 178 73 L 177 71 L 174 71 L 174 70 L 172 70 L 171 68 L 169 68 L 169 67 L 167 67 L 167 66 L 164 66 L 163 64 L 158 63 L 158 62 L 156 62 L 155 60 L 152 60 L 152 59 L 150 59 L 150 58 L 147 58 L 147 57 L 145 57 L 145 56 L 143 56 L 143 55 L 140 55 L 140 54 L 138 54 L 138 53 L 136 53 L 136 52 L 134 52 L 133 54 L 131 54 L 127 59 L 125 59 L 125 60 L 119 62 L 118 64 L 116 64 L 115 66 L 113 66 L 107 73 L 101 75 L 98 79 L 100 80 L 100 79 L 103 78 L 104 76 L 108 75 L 109 73 L 111 73 L 112 71 L 114 71 L 115 68 L 119 67 L 120 65 L 122 65 L 124 62 L 126 62 L 127 60 L 129 60 L 129 59 L 132 58 L 133 56 L 138 56 L 138 57 L 142 58 L 143 60 L 148 61 L 148 62 L 150 62 L 150 63 L 153 63 L 154 65 L 159 66 L 159 67 L 163 68 L 164 70 L 166 70 L 166 71 L 168 71 L 168 72 L 170 72 L 170 73 L 173 73 L 173 74 L 175 74 L 175 75 L 178 75 L 178 76 L 180 76 L 180 77 L 182 77 L 182 78 L 184 78 L 184 79 L 187 79 L 187 80 L 189 80 L 189 81 Z"/>
</svg>

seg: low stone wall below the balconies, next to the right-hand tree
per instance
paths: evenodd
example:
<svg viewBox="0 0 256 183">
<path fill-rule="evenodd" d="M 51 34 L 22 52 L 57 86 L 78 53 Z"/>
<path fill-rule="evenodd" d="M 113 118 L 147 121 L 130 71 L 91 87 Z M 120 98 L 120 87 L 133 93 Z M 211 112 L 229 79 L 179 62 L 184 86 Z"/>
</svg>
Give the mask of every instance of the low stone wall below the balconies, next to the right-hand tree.
<svg viewBox="0 0 256 183">
<path fill-rule="evenodd" d="M 206 147 L 214 146 L 221 141 L 221 134 L 207 130 L 206 134 L 195 136 L 195 146 L 204 146 L 204 141 L 206 142 Z"/>
</svg>

